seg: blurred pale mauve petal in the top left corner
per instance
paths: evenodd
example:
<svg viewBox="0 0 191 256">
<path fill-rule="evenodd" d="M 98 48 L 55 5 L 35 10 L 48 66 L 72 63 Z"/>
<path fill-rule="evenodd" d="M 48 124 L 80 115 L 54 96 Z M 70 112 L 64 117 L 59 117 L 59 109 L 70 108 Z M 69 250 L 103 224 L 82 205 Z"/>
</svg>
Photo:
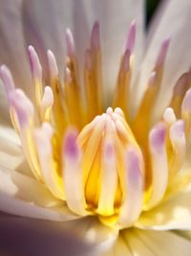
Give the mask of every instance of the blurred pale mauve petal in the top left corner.
<svg viewBox="0 0 191 256">
<path fill-rule="evenodd" d="M 0 1 L 0 63 L 11 68 L 17 85 L 30 91 L 31 75 L 22 28 L 22 0 Z"/>
</svg>

